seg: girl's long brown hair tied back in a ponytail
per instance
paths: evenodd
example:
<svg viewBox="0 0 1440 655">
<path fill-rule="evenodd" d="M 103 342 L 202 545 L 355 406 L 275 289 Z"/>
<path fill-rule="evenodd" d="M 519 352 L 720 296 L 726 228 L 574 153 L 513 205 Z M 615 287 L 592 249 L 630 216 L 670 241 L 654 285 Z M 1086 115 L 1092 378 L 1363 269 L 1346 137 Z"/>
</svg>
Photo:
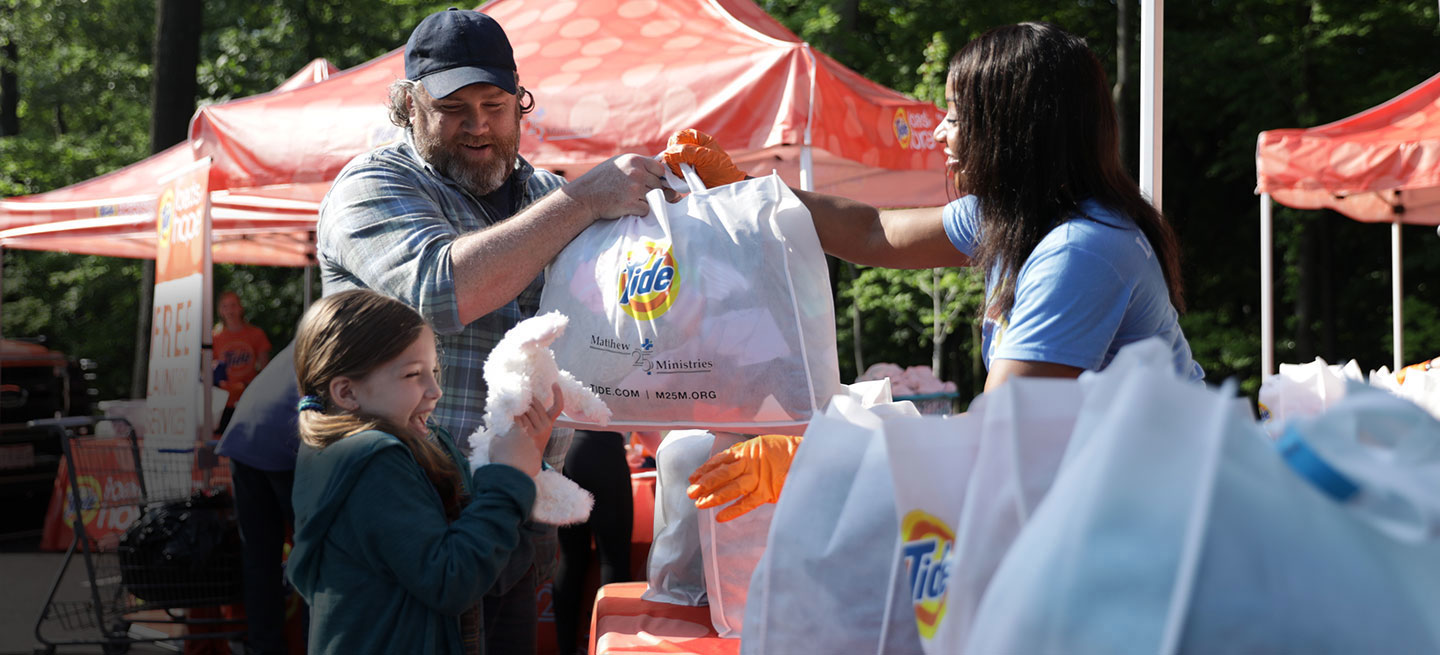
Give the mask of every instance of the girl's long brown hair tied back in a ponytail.
<svg viewBox="0 0 1440 655">
<path fill-rule="evenodd" d="M 459 471 L 438 443 L 386 420 L 348 413 L 330 397 L 331 380 L 370 374 L 405 353 L 425 335 L 425 318 L 409 305 L 369 289 L 341 291 L 311 305 L 295 335 L 295 379 L 300 394 L 315 396 L 324 410 L 300 412 L 300 438 L 325 448 L 372 429 L 395 435 L 425 469 L 445 504 L 445 515 L 454 520 L 459 515 Z"/>
</svg>

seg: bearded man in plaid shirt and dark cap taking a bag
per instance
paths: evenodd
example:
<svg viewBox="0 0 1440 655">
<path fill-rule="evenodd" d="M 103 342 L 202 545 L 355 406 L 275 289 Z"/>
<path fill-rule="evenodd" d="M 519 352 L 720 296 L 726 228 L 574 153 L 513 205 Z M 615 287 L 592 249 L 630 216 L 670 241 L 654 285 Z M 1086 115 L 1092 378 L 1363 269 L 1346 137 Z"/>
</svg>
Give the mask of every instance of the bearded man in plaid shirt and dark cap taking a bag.
<svg viewBox="0 0 1440 655">
<path fill-rule="evenodd" d="M 518 148 L 534 98 L 505 32 L 482 13 L 422 20 L 405 46 L 405 76 L 390 88 L 403 140 L 340 171 L 320 206 L 315 250 L 325 295 L 370 288 L 425 315 L 442 369 L 432 416 L 464 448 L 485 412 L 481 366 L 539 310 L 544 266 L 592 222 L 645 214 L 664 167 L 625 154 L 570 183 L 531 167 Z M 553 468 L 569 441 L 569 430 L 552 436 Z M 536 651 L 536 584 L 553 573 L 556 541 L 554 527 L 526 525 L 482 603 L 491 654 Z"/>
</svg>

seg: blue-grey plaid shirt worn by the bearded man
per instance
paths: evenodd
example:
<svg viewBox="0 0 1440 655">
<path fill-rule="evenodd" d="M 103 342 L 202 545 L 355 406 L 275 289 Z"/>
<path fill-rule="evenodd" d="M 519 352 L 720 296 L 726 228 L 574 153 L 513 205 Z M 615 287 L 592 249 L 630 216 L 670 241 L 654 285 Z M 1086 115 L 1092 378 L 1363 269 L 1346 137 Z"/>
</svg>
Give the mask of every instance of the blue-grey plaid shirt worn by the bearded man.
<svg viewBox="0 0 1440 655">
<path fill-rule="evenodd" d="M 518 298 L 462 325 L 451 245 L 510 213 L 432 168 L 415 151 L 409 130 L 405 135 L 346 164 L 321 203 L 315 243 L 321 284 L 325 295 L 359 286 L 379 291 L 429 321 L 438 340 L 444 390 L 433 417 L 468 452 L 469 435 L 485 412 L 481 367 L 505 331 L 536 314 L 544 274 Z M 520 158 L 508 184 L 523 190 L 523 209 L 559 189 L 564 179 Z M 572 435 L 557 429 L 552 436 L 546 449 L 550 466 L 563 466 Z"/>
</svg>

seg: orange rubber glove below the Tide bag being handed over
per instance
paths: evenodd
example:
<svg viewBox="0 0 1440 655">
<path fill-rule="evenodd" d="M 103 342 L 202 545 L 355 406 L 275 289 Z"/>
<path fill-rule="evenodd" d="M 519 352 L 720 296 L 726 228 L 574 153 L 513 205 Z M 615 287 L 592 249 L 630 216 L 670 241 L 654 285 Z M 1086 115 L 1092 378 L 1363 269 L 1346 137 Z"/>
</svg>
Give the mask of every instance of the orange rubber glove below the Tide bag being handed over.
<svg viewBox="0 0 1440 655">
<path fill-rule="evenodd" d="M 747 511 L 780 498 L 785 475 L 791 471 L 799 436 L 760 435 L 714 453 L 690 475 L 685 495 L 696 507 L 708 510 L 730 501 L 716 521 L 739 518 Z"/>
</svg>

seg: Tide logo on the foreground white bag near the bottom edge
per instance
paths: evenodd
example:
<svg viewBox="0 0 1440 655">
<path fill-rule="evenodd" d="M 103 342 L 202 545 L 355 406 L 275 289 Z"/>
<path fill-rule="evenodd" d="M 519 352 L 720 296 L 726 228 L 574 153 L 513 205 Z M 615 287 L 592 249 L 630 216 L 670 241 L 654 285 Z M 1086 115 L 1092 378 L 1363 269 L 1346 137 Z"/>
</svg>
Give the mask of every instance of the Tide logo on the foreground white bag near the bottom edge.
<svg viewBox="0 0 1440 655">
<path fill-rule="evenodd" d="M 914 623 L 920 636 L 933 639 L 945 619 L 945 590 L 950 580 L 955 533 L 945 521 L 913 510 L 900 521 L 900 537 L 904 538 L 901 553 L 910 579 Z"/>
</svg>

